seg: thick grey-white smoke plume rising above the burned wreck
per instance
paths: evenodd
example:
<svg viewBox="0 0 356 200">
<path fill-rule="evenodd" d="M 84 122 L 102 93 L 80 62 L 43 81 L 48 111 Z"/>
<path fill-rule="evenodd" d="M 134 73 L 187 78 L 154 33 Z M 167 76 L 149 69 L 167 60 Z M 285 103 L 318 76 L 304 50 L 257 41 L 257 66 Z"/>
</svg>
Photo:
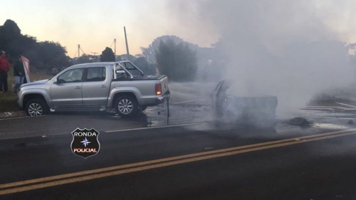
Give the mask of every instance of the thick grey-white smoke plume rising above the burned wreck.
<svg viewBox="0 0 356 200">
<path fill-rule="evenodd" d="M 225 76 L 236 80 L 235 89 L 276 95 L 279 111 L 300 108 L 316 92 L 355 79 L 348 47 L 325 21 L 330 16 L 318 0 L 173 4 L 179 13 L 195 17 L 197 28 L 220 35 L 219 49 L 229 58 Z M 195 13 L 182 10 L 191 7 Z"/>
</svg>

